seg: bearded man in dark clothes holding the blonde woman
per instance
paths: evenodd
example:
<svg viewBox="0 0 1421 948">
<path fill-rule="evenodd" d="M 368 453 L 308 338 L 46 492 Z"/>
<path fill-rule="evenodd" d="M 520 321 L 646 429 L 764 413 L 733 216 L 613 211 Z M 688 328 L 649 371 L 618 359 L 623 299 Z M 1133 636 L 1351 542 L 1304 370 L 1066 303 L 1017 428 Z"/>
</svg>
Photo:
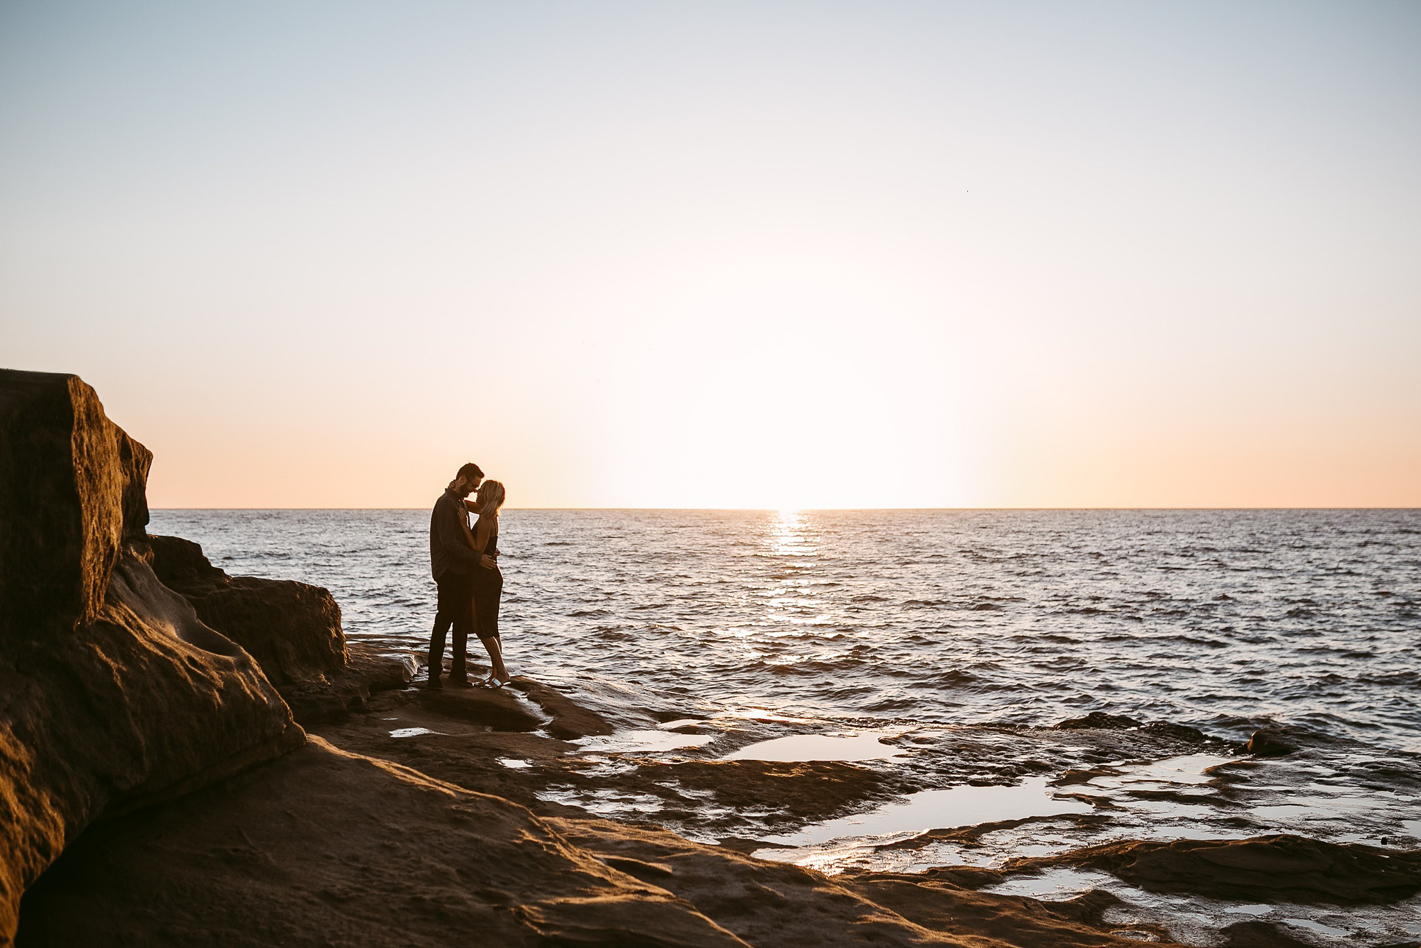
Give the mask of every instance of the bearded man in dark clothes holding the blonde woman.
<svg viewBox="0 0 1421 948">
<path fill-rule="evenodd" d="M 449 684 L 469 688 L 465 671 L 469 632 L 473 631 L 473 571 L 480 557 L 473 551 L 473 536 L 469 530 L 469 510 L 463 499 L 477 490 L 483 480 L 479 465 L 466 463 L 443 495 L 435 500 L 429 516 L 429 566 L 439 587 L 439 604 L 435 610 L 435 628 L 429 635 L 429 686 L 441 688 L 443 672 L 443 642 L 449 627 L 453 627 L 453 661 L 449 668 Z M 485 557 L 489 559 L 489 557 Z"/>
</svg>

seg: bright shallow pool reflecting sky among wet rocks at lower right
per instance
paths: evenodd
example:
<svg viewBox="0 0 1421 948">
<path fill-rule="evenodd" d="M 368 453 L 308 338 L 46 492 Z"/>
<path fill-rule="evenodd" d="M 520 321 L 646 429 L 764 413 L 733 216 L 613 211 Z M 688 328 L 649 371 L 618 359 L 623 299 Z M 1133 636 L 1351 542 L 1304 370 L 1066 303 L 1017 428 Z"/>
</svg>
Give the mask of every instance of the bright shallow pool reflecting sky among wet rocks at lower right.
<svg viewBox="0 0 1421 948">
<path fill-rule="evenodd" d="M 1377 837 L 1395 833 L 1388 826 L 1421 830 L 1421 822 L 1400 819 L 1410 816 L 1407 800 L 1393 792 L 1361 797 L 1354 789 L 1320 783 L 1307 767 L 1286 762 L 1245 762 L 1236 769 L 1263 779 L 1239 783 L 1236 769 L 1222 766 L 1233 762 L 1198 753 L 1150 763 L 1117 762 L 1100 767 L 1097 776 L 1063 786 L 1030 777 L 1017 786 L 925 790 L 796 834 L 763 837 L 789 849 L 763 849 L 755 856 L 828 874 L 850 868 L 921 873 L 936 866 L 999 868 L 1013 857 L 1050 856 L 1124 839 L 1243 839 L 1302 831 L 1376 844 Z M 1232 776 L 1221 779 L 1221 766 Z M 1279 777 L 1293 782 L 1279 783 Z M 1006 824 L 982 826 L 988 823 Z M 1219 944 L 1225 927 L 1245 921 L 1266 922 L 1309 945 L 1343 939 L 1410 944 L 1421 934 L 1421 897 L 1346 908 L 1231 903 L 1145 893 L 1108 873 L 1070 866 L 1010 874 L 982 891 L 1063 901 L 1090 890 L 1106 890 L 1123 900 L 1107 910 L 1107 925 L 1162 927 L 1175 941 L 1192 945 Z"/>
</svg>

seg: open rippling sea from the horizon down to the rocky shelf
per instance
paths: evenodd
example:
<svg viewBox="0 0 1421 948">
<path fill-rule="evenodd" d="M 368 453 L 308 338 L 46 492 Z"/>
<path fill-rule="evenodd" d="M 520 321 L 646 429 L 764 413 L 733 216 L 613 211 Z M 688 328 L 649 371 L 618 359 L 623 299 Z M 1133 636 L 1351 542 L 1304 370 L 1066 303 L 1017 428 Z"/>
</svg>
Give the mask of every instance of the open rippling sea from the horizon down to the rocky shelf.
<svg viewBox="0 0 1421 948">
<path fill-rule="evenodd" d="M 432 502 L 432 499 L 431 499 Z M 421 650 L 426 510 L 155 510 L 233 574 Z M 509 667 L 726 708 L 1421 749 L 1418 510 L 509 510 Z M 482 650 L 472 644 L 475 657 Z"/>
</svg>

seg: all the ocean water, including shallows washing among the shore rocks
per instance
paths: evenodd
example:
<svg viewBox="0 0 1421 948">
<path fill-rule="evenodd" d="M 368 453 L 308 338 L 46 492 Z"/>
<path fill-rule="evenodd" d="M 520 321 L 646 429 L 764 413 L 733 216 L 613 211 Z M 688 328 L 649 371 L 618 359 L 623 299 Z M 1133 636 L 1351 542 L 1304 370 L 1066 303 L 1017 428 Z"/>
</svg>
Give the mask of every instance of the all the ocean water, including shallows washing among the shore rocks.
<svg viewBox="0 0 1421 948">
<path fill-rule="evenodd" d="M 156 510 L 151 530 L 202 543 L 232 574 L 324 586 L 348 637 L 418 654 L 435 601 L 428 516 Z M 1277 833 L 1414 850 L 1418 539 L 1421 510 L 507 510 L 509 668 L 617 732 L 556 766 L 493 763 L 529 775 L 546 803 L 756 840 L 762 858 L 830 874 Z M 1142 726 L 1054 726 L 1090 712 Z M 1246 755 L 1269 723 L 1299 729 L 1303 749 Z M 1209 739 L 1175 740 L 1172 725 Z M 450 739 L 398 715 L 365 726 Z M 752 775 L 755 762 L 855 762 L 813 765 L 800 779 L 814 799 L 854 775 L 898 789 L 801 819 L 722 796 L 737 770 L 698 782 L 696 767 L 732 760 Z M 1421 895 L 1259 904 L 1079 867 L 985 888 L 1088 890 L 1121 900 L 1107 921 L 1131 938 L 1225 944 L 1239 920 L 1289 944 L 1421 935 Z"/>
</svg>

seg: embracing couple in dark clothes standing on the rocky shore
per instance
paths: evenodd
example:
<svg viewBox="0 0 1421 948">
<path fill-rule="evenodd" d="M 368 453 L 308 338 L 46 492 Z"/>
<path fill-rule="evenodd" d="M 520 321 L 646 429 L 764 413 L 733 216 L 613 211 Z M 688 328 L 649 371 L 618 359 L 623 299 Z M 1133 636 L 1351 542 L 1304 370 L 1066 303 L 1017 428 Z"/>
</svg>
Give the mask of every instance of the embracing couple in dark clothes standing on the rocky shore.
<svg viewBox="0 0 1421 948">
<path fill-rule="evenodd" d="M 475 495 L 469 499 L 469 495 Z M 489 650 L 492 674 L 480 685 L 502 688 L 509 684 L 509 669 L 503 667 L 503 641 L 499 638 L 499 598 L 503 596 L 503 573 L 499 571 L 499 509 L 503 506 L 503 485 L 485 480 L 479 465 L 459 468 L 443 495 L 435 500 L 429 517 L 429 564 L 439 587 L 435 628 L 429 637 L 429 686 L 442 688 L 443 642 L 453 627 L 453 662 L 449 684 L 470 688 L 465 671 L 469 632 Z M 469 515 L 477 515 L 470 527 Z"/>
</svg>

